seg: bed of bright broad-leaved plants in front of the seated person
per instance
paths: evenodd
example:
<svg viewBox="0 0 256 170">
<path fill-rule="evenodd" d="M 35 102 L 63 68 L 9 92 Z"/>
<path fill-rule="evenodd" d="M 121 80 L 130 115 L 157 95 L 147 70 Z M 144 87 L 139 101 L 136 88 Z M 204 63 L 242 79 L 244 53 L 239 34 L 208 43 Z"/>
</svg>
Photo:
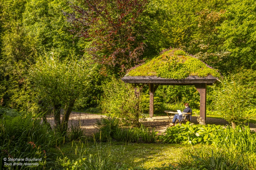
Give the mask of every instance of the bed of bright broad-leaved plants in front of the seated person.
<svg viewBox="0 0 256 170">
<path fill-rule="evenodd" d="M 213 144 L 220 148 L 236 148 L 240 152 L 254 152 L 256 133 L 248 126 L 194 125 L 182 124 L 169 127 L 165 135 L 159 137 L 164 143 Z"/>
</svg>

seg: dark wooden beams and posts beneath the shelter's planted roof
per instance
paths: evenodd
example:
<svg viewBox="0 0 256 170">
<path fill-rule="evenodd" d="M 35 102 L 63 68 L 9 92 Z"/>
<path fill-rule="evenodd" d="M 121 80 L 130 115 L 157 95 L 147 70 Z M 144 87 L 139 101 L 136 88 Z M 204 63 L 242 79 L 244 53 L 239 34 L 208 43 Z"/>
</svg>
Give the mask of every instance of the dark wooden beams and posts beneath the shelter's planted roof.
<svg viewBox="0 0 256 170">
<path fill-rule="evenodd" d="M 200 117 L 203 118 L 205 123 L 207 85 L 213 85 L 217 81 L 217 78 L 212 75 L 208 75 L 207 77 L 189 75 L 184 79 L 167 79 L 157 76 L 124 76 L 121 80 L 125 83 L 132 83 L 134 87 L 139 86 L 140 84 L 142 84 L 141 87 L 145 84 L 149 85 L 150 117 L 153 117 L 154 115 L 154 93 L 159 85 L 194 85 L 200 94 Z M 137 89 L 135 88 L 135 93 L 136 90 Z"/>
</svg>

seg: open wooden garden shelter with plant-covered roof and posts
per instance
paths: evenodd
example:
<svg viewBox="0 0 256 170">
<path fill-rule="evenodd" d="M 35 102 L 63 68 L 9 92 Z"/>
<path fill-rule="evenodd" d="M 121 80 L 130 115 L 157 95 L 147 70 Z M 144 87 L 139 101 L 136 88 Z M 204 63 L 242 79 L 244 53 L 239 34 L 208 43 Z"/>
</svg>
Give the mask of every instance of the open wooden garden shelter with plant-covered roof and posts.
<svg viewBox="0 0 256 170">
<path fill-rule="evenodd" d="M 149 85 L 149 115 L 154 115 L 154 93 L 159 85 L 194 85 L 200 94 L 200 117 L 206 120 L 207 85 L 219 81 L 217 70 L 179 49 L 169 49 L 130 70 L 121 80 L 136 86 Z"/>
</svg>

